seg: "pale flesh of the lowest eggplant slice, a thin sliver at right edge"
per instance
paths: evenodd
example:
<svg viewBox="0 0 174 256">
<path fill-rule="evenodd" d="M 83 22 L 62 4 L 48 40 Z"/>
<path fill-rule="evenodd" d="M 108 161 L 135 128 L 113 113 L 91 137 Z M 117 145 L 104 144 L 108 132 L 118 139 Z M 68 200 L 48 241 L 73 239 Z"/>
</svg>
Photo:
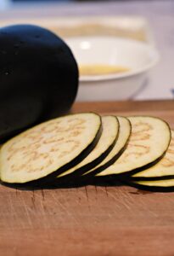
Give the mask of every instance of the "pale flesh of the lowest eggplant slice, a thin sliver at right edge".
<svg viewBox="0 0 174 256">
<path fill-rule="evenodd" d="M 137 183 L 139 185 L 148 186 L 148 187 L 163 187 L 163 188 L 174 187 L 174 179 L 154 180 L 154 181 L 135 181 L 133 183 Z"/>
</svg>

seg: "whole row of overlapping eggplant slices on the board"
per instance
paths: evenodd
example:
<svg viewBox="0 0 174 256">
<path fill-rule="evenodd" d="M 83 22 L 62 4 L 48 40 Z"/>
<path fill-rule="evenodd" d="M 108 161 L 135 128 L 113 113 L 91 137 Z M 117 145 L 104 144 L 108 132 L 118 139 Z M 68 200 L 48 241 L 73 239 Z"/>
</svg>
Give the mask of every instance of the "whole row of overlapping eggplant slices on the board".
<svg viewBox="0 0 174 256">
<path fill-rule="evenodd" d="M 75 113 L 48 120 L 4 143 L 2 183 L 98 184 L 174 191 L 174 131 L 149 116 Z"/>
</svg>

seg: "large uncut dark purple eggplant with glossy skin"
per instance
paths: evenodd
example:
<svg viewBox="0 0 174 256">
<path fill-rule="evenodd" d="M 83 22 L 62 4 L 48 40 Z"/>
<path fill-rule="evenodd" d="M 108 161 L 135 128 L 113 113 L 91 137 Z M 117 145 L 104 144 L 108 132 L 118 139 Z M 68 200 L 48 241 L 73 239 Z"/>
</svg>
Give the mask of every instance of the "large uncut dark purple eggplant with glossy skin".
<svg viewBox="0 0 174 256">
<path fill-rule="evenodd" d="M 0 143 L 68 113 L 78 67 L 65 42 L 40 26 L 0 29 Z"/>
</svg>

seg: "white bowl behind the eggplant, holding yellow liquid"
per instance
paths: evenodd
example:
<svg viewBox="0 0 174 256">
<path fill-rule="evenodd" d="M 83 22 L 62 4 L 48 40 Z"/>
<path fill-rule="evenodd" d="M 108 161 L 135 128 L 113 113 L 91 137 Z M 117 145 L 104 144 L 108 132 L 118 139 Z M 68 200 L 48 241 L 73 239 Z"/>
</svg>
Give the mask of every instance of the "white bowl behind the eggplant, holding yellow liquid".
<svg viewBox="0 0 174 256">
<path fill-rule="evenodd" d="M 154 47 L 131 39 L 76 37 L 66 39 L 78 65 L 128 67 L 124 73 L 80 76 L 77 101 L 125 100 L 143 85 L 147 72 L 159 60 Z"/>
</svg>

